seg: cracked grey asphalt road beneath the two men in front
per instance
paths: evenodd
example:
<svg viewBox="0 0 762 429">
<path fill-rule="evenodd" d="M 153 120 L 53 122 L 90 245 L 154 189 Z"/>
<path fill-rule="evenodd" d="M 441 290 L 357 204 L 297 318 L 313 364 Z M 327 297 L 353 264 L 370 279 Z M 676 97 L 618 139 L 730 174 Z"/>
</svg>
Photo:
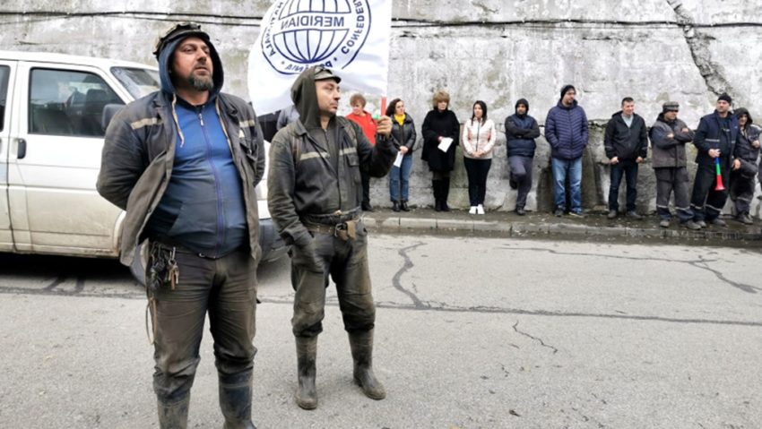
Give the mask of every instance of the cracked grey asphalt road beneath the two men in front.
<svg viewBox="0 0 762 429">
<path fill-rule="evenodd" d="M 762 251 L 372 236 L 375 368 L 351 382 L 333 287 L 316 411 L 293 402 L 289 262 L 259 270 L 267 428 L 762 427 Z M 155 423 L 143 290 L 113 261 L 0 255 L 0 427 Z M 221 427 L 212 344 L 191 427 Z"/>
</svg>

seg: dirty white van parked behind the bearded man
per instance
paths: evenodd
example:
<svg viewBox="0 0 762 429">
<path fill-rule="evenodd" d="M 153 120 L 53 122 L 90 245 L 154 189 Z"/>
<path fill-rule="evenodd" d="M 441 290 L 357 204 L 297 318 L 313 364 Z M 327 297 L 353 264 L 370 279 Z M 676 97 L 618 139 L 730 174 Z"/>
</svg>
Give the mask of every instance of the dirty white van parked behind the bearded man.
<svg viewBox="0 0 762 429">
<path fill-rule="evenodd" d="M 158 69 L 143 64 L 0 51 L 0 252 L 119 256 L 125 213 L 95 190 L 103 135 L 119 108 L 158 89 Z M 265 261 L 287 250 L 266 189 Z"/>
</svg>

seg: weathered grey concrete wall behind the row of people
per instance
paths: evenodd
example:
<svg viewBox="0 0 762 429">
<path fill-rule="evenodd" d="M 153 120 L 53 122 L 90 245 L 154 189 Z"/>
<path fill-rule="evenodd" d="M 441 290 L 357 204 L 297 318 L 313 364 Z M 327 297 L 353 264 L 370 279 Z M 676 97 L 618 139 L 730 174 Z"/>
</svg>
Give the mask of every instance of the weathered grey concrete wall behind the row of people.
<svg viewBox="0 0 762 429">
<path fill-rule="evenodd" d="M 226 90 L 247 97 L 247 54 L 259 31 L 265 0 L 20 0 L 0 5 L 0 47 L 121 57 L 153 64 L 151 47 L 168 21 L 203 23 L 221 51 Z M 662 0 L 395 0 L 389 97 L 405 99 L 420 123 L 434 90 L 452 96 L 463 121 L 484 100 L 502 124 L 515 100 L 529 99 L 540 123 L 567 82 L 576 85 L 593 127 L 584 158 L 584 206 L 605 207 L 608 167 L 602 130 L 625 96 L 652 124 L 662 102 L 680 102 L 680 117 L 697 126 L 724 90 L 735 106 L 762 122 L 762 3 Z M 377 99 L 369 99 L 377 109 Z M 349 108 L 347 107 L 347 110 Z M 528 209 L 549 210 L 549 149 L 540 139 L 535 189 Z M 430 177 L 415 155 L 411 203 L 430 205 Z M 512 210 L 501 135 L 489 174 L 489 209 Z M 467 206 L 466 179 L 458 157 L 451 205 Z M 622 190 L 623 191 L 623 190 Z M 654 210 L 650 163 L 640 172 L 640 210 Z M 623 196 L 623 195 L 622 195 Z M 386 180 L 373 184 L 375 202 L 386 202 Z M 759 204 L 754 212 L 759 215 Z"/>
</svg>

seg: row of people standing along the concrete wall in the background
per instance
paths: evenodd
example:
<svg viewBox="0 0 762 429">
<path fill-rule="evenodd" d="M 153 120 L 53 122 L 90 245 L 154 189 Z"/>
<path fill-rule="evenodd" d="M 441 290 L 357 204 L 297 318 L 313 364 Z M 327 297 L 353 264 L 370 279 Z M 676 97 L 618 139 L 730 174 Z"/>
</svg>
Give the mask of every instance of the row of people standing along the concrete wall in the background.
<svg viewBox="0 0 762 429">
<path fill-rule="evenodd" d="M 355 94 L 354 97 L 361 96 Z M 498 131 L 495 123 L 488 118 L 488 107 L 484 101 L 473 103 L 472 116 L 463 126 L 449 106 L 449 94 L 437 91 L 432 98 L 432 109 L 421 126 L 423 147 L 420 158 L 427 162 L 431 171 L 434 210 L 450 210 L 447 205 L 450 174 L 455 168 L 455 148 L 461 146 L 463 167 L 468 177 L 469 214 L 484 214 L 487 176 Z M 355 108 L 354 104 L 352 107 Z M 733 202 L 735 219 L 752 225 L 749 208 L 760 170 L 759 137 L 762 129 L 753 124 L 746 108 L 731 111 L 731 107 L 731 97 L 721 95 L 714 112 L 702 117 L 694 132 L 677 117 L 679 103 L 667 101 L 649 129 L 645 119 L 635 113 L 635 100 L 631 97 L 622 99 L 620 110 L 611 115 L 604 133 L 603 147 L 610 166 L 607 219 L 616 219 L 620 215 L 628 219 L 643 219 L 643 215 L 636 210 L 637 176 L 640 165 L 648 156 L 650 141 L 660 227 L 671 225 L 671 198 L 674 198 L 676 215 L 682 227 L 698 230 L 708 225 L 724 226 L 725 221 L 720 214 L 728 197 Z M 411 155 L 416 143 L 415 124 L 411 116 L 405 113 L 402 99 L 394 99 L 386 109 L 386 115 L 394 116 L 395 147 L 402 159 L 399 166 L 395 164 L 392 168 L 389 177 L 392 210 L 408 211 Z M 347 117 L 362 126 L 362 120 L 355 113 Z M 507 116 L 504 124 L 507 164 L 510 168 L 508 184 L 517 192 L 515 213 L 524 216 L 527 195 L 533 184 L 535 139 L 541 135 L 540 126 L 529 116 L 529 101 L 526 99 L 516 101 L 515 113 Z M 568 214 L 584 218 L 582 158 L 589 133 L 587 116 L 576 100 L 573 85 L 565 85 L 561 89 L 557 105 L 550 108 L 546 117 L 544 135 L 550 144 L 553 212 L 558 217 Z M 686 156 L 688 143 L 693 143 L 697 148 L 697 174 L 692 191 Z M 625 209 L 620 210 L 619 187 L 623 179 L 627 196 Z M 718 186 L 718 182 L 721 185 Z M 367 193 L 364 198 L 363 209 L 368 210 L 365 205 Z"/>
</svg>

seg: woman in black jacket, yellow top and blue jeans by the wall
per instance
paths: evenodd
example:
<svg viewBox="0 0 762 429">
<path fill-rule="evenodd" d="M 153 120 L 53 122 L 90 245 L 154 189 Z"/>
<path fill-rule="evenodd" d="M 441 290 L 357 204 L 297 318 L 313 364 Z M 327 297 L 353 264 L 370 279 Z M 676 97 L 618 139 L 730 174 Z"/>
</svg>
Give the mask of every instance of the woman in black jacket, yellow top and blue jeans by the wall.
<svg viewBox="0 0 762 429">
<path fill-rule="evenodd" d="M 415 123 L 412 117 L 405 113 L 405 102 L 393 99 L 386 107 L 386 116 L 392 118 L 392 135 L 399 142 L 397 159 L 389 173 L 389 198 L 392 200 L 392 210 L 409 211 L 408 192 L 410 189 L 410 172 L 412 170 L 412 148 L 415 146 Z"/>
</svg>

